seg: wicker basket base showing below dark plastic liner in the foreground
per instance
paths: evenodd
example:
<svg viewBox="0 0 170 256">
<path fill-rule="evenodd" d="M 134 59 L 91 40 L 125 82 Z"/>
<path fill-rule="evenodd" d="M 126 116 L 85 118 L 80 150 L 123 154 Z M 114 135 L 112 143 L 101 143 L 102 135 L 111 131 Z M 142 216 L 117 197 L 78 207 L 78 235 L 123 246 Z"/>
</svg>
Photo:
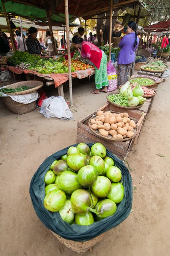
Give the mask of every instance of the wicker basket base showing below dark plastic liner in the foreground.
<svg viewBox="0 0 170 256">
<path fill-rule="evenodd" d="M 92 246 L 94 246 L 96 243 L 100 242 L 101 239 L 104 236 L 106 236 L 106 234 L 107 234 L 107 232 L 105 232 L 105 233 L 101 234 L 100 236 L 97 236 L 89 241 L 77 242 L 77 241 L 64 239 L 61 236 L 58 236 L 57 234 L 53 233 L 53 235 L 58 238 L 58 240 L 61 242 L 61 244 L 64 244 L 67 248 L 75 251 L 78 254 L 85 253 L 87 250 L 92 248 Z"/>
</svg>

